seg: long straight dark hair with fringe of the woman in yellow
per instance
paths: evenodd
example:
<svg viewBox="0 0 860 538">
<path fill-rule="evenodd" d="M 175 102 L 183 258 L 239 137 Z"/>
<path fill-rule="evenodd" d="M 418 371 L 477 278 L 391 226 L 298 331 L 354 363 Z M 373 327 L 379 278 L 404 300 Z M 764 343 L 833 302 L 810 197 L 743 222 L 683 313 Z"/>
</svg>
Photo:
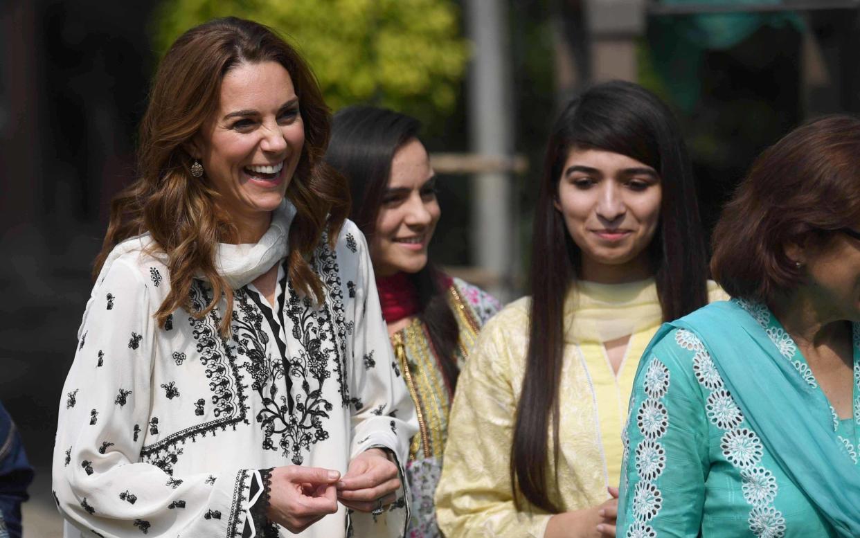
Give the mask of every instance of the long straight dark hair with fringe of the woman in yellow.
<svg viewBox="0 0 860 538">
<path fill-rule="evenodd" d="M 685 144 L 672 113 L 646 89 L 625 82 L 602 83 L 574 97 L 556 121 L 547 144 L 535 211 L 531 250 L 531 316 L 522 394 L 511 448 L 511 486 L 542 510 L 550 500 L 548 432 L 553 433 L 558 492 L 558 384 L 564 352 L 564 299 L 576 285 L 581 251 L 553 202 L 570 150 L 605 150 L 629 156 L 660 174 L 660 224 L 648 253 L 664 320 L 707 303 L 707 260 L 696 187 Z"/>
</svg>

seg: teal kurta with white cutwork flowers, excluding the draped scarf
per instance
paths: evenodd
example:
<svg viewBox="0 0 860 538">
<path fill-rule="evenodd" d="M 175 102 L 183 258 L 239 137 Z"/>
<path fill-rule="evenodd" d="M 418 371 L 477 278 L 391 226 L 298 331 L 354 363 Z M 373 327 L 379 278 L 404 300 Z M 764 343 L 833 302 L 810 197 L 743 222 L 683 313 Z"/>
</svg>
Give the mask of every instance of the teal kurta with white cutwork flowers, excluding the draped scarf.
<svg viewBox="0 0 860 538">
<path fill-rule="evenodd" d="M 795 342 L 763 305 L 739 302 L 765 329 L 774 360 L 821 390 Z M 857 465 L 860 324 L 853 330 L 853 416 L 832 428 Z M 774 395 L 761 394 L 762 398 Z M 784 417 L 790 427 L 791 417 Z M 799 440 L 800 442 L 800 440 Z M 835 536 L 826 518 L 777 465 L 746 420 L 710 352 L 674 328 L 642 359 L 624 435 L 618 536 Z"/>
</svg>

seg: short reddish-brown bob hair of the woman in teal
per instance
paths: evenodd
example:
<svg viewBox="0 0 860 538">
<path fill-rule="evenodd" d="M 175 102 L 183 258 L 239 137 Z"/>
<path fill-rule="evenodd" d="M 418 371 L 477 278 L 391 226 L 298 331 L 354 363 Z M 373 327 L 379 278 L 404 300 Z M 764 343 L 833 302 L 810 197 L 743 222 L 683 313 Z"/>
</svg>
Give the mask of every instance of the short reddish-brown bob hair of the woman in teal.
<svg viewBox="0 0 860 538">
<path fill-rule="evenodd" d="M 711 272 L 732 297 L 770 304 L 805 278 L 787 246 L 820 248 L 857 223 L 860 119 L 816 119 L 753 163 L 716 224 Z"/>
</svg>

